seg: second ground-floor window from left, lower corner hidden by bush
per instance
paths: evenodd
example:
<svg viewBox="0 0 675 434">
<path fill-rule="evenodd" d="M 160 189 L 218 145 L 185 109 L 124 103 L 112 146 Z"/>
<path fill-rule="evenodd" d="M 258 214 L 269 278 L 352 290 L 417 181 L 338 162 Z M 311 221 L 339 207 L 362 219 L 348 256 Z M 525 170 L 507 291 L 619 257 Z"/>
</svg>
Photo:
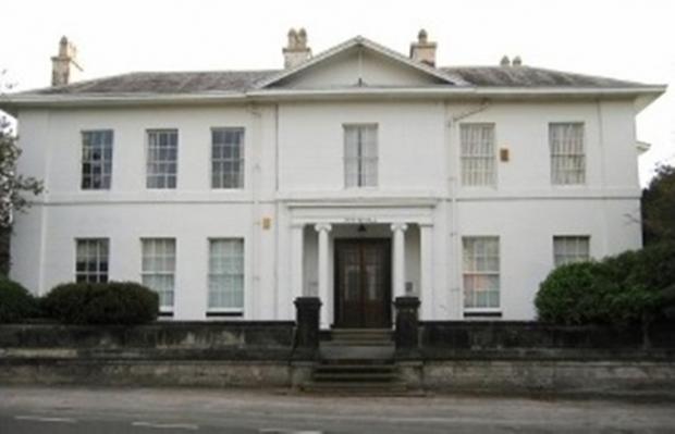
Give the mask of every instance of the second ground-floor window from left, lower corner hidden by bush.
<svg viewBox="0 0 675 434">
<path fill-rule="evenodd" d="M 175 290 L 175 239 L 144 238 L 143 245 L 143 284 L 159 295 L 162 311 L 173 309 Z"/>
</svg>

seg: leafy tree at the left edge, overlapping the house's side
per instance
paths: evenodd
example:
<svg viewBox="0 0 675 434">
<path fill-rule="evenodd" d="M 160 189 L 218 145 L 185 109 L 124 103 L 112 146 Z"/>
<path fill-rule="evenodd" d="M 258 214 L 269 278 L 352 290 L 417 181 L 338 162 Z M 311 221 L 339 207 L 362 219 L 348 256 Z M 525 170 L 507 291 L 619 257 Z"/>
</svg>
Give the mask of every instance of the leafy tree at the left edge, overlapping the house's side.
<svg viewBox="0 0 675 434">
<path fill-rule="evenodd" d="M 3 73 L 0 73 L 2 78 Z M 0 79 L 0 98 L 9 86 Z M 39 195 L 44 185 L 32 176 L 16 172 L 16 162 L 21 156 L 17 137 L 4 113 L 0 112 L 0 273 L 10 270 L 10 237 L 13 218 L 30 206 L 29 196 Z"/>
</svg>

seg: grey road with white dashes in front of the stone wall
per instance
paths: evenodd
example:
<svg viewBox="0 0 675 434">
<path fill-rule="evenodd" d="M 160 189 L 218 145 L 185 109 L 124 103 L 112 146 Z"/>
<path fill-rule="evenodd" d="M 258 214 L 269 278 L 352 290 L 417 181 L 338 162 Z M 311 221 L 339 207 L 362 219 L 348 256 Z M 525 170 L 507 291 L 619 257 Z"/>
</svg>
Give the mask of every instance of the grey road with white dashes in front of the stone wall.
<svg viewBox="0 0 675 434">
<path fill-rule="evenodd" d="M 675 433 L 675 404 L 0 386 L 0 434 Z"/>
</svg>

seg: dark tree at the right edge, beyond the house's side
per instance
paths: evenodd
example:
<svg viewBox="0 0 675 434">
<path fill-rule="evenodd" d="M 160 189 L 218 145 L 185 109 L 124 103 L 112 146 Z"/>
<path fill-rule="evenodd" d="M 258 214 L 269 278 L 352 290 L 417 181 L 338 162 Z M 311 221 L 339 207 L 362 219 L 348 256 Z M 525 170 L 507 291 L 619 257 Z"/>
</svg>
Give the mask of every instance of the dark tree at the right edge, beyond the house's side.
<svg viewBox="0 0 675 434">
<path fill-rule="evenodd" d="M 675 240 L 675 166 L 661 164 L 642 190 L 645 245 Z"/>
</svg>

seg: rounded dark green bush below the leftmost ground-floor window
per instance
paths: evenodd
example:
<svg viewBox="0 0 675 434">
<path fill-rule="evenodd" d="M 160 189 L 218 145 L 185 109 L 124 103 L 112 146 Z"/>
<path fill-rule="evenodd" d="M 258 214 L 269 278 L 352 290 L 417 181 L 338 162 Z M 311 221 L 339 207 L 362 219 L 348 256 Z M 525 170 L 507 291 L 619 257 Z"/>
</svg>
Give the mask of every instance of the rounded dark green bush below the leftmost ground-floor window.
<svg viewBox="0 0 675 434">
<path fill-rule="evenodd" d="M 65 324 L 143 324 L 155 321 L 159 297 L 133 282 L 66 283 L 44 298 L 46 312 Z"/>
</svg>

